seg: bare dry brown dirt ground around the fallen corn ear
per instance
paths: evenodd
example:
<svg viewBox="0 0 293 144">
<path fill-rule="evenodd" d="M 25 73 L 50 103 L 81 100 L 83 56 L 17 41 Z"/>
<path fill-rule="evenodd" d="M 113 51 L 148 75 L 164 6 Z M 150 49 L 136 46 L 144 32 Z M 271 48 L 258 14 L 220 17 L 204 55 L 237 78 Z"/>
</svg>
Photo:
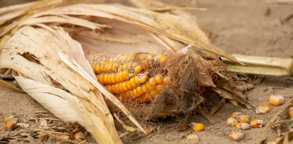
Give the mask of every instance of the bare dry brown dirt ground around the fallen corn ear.
<svg viewBox="0 0 293 144">
<path fill-rule="evenodd" d="M 187 2 L 179 0 L 164 0 L 169 4 L 183 5 Z M 11 1 L 1 1 L 0 5 L 8 5 Z M 18 1 L 19 2 L 19 1 Z M 13 2 L 14 4 L 14 2 Z M 207 11 L 191 11 L 197 16 L 200 27 L 212 32 L 216 37 L 213 44 L 226 52 L 255 56 L 274 56 L 289 58 L 293 56 L 293 19 L 285 20 L 293 13 L 293 5 L 270 5 L 263 0 L 197 0 L 198 7 L 208 8 Z M 285 104 L 289 103 L 293 94 L 293 81 L 291 78 L 266 76 L 259 85 L 248 92 L 248 98 L 255 106 L 269 104 L 268 99 L 273 94 L 286 94 Z M 196 134 L 202 144 L 213 143 L 253 143 L 260 138 L 268 136 L 268 141 L 275 140 L 277 133 L 264 131 L 262 128 L 253 128 L 245 131 L 240 142 L 227 138 L 226 132 L 233 127 L 226 126 L 226 119 L 233 112 L 242 112 L 251 116 L 251 119 L 261 119 L 268 122 L 272 116 L 280 111 L 285 104 L 274 107 L 270 105 L 271 112 L 265 115 L 256 115 L 253 110 L 246 107 L 236 107 L 227 102 L 211 117 L 217 121 L 209 124 L 200 114 L 192 116 L 188 123 L 197 122 L 205 125 L 205 130 L 195 132 L 188 127 L 187 131 L 179 132 L 176 128 L 168 128 L 174 122 L 166 119 L 159 131 L 154 131 L 144 138 L 123 140 L 124 143 L 138 144 L 178 144 L 193 143 L 186 140 L 188 134 Z M 23 121 L 32 118 L 35 111 L 45 110 L 29 95 L 0 88 L 0 106 L 4 115 L 12 112 L 18 114 Z M 288 119 L 289 115 L 285 117 Z M 30 122 L 31 123 L 31 122 Z M 282 133 L 286 132 L 286 128 Z"/>
</svg>

